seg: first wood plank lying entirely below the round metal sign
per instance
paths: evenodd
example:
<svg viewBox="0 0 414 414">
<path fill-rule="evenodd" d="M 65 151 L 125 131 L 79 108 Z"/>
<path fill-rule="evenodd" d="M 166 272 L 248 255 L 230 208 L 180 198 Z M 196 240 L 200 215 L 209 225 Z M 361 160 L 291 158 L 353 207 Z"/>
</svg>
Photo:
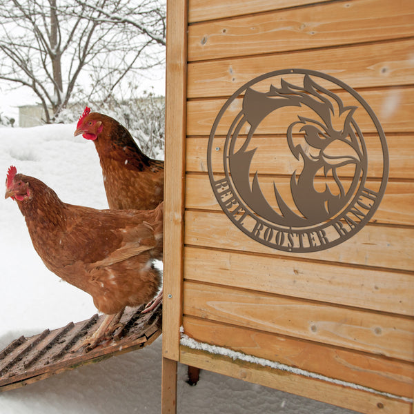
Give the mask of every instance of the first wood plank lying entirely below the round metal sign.
<svg viewBox="0 0 414 414">
<path fill-rule="evenodd" d="M 406 273 L 186 247 L 184 275 L 195 282 L 414 316 L 414 275 Z"/>
</svg>

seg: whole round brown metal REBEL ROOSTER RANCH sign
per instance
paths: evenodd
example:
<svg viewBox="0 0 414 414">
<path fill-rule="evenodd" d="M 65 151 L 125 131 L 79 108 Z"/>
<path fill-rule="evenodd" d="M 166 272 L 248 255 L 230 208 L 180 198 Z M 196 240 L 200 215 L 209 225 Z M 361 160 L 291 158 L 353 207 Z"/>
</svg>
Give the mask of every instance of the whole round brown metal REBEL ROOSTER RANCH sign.
<svg viewBox="0 0 414 414">
<path fill-rule="evenodd" d="M 207 159 L 215 197 L 233 224 L 288 252 L 331 248 L 355 235 L 388 180 L 386 138 L 371 107 L 314 70 L 276 70 L 239 88 L 215 119 Z"/>
</svg>

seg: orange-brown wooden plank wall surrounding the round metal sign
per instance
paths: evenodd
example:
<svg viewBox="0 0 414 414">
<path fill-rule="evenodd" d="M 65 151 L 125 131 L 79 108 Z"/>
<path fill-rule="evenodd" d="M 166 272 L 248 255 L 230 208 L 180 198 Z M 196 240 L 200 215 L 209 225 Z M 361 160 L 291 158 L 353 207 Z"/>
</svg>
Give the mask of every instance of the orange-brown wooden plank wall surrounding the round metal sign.
<svg viewBox="0 0 414 414">
<path fill-rule="evenodd" d="M 180 347 L 179 326 L 200 342 L 413 398 L 414 2 L 168 0 L 168 24 L 164 357 L 362 413 L 411 413 L 409 400 Z M 244 235 L 208 179 L 221 106 L 250 79 L 286 68 L 354 88 L 388 143 L 373 219 L 317 253 Z M 389 99 L 395 110 L 384 112 Z"/>
</svg>

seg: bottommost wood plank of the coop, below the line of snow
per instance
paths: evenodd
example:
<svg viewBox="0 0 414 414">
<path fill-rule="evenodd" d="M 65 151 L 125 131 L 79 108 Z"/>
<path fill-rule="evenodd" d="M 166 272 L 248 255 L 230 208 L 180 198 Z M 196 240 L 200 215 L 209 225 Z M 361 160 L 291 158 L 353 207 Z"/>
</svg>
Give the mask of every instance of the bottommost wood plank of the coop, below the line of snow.
<svg viewBox="0 0 414 414">
<path fill-rule="evenodd" d="M 181 346 L 180 360 L 184 364 L 191 364 L 215 373 L 342 406 L 360 413 L 411 414 L 412 404 L 409 402 L 346 388 L 331 382 L 314 380 L 302 375 L 273 370 L 239 359 L 234 361 L 230 357 L 212 356 L 206 351 L 196 351 L 185 346 Z"/>
</svg>

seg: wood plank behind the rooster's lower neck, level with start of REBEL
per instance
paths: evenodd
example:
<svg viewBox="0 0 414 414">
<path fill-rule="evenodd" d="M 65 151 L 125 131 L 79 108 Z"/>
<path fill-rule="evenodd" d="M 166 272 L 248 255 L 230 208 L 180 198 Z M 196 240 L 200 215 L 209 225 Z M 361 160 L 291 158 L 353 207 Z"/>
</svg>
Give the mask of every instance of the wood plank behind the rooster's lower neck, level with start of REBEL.
<svg viewBox="0 0 414 414">
<path fill-rule="evenodd" d="M 221 175 L 217 175 L 220 178 Z M 224 177 L 224 175 L 222 176 Z M 253 179 L 253 177 L 252 177 Z M 284 199 L 290 197 L 290 179 L 288 177 L 259 177 L 262 192 L 267 199 L 275 198 L 273 183 L 276 184 L 279 194 Z M 344 184 L 351 184 L 350 179 L 342 179 Z M 368 183 L 371 181 L 368 180 Z M 326 179 L 316 180 L 316 185 L 324 189 Z M 379 186 L 380 183 L 373 181 L 370 188 Z M 414 182 L 389 181 L 386 193 L 381 201 L 380 208 L 371 218 L 371 223 L 377 224 L 400 224 L 414 225 Z M 201 208 L 206 210 L 221 211 L 221 207 L 211 189 L 208 175 L 186 176 L 186 208 Z M 297 208 L 293 208 L 299 213 Z"/>
</svg>

